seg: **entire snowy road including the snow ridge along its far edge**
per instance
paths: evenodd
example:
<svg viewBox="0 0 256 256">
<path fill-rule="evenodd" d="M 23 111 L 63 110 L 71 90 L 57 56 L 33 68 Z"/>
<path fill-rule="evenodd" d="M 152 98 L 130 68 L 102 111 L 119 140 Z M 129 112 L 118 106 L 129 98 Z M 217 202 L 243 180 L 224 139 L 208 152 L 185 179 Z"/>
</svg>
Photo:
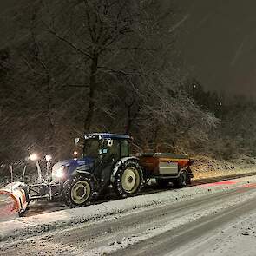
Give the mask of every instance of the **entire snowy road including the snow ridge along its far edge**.
<svg viewBox="0 0 256 256">
<path fill-rule="evenodd" d="M 252 176 L 6 221 L 0 254 L 255 255 L 255 188 Z"/>
</svg>

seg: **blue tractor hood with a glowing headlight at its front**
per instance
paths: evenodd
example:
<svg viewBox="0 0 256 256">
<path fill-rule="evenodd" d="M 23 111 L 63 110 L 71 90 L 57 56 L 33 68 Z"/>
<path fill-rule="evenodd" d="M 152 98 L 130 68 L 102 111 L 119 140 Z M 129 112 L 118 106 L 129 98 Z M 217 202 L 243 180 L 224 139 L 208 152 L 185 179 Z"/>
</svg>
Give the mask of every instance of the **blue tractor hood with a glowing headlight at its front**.
<svg viewBox="0 0 256 256">
<path fill-rule="evenodd" d="M 94 166 L 94 162 L 95 159 L 91 157 L 58 161 L 52 167 L 52 180 L 66 180 L 76 170 L 88 171 Z"/>
</svg>

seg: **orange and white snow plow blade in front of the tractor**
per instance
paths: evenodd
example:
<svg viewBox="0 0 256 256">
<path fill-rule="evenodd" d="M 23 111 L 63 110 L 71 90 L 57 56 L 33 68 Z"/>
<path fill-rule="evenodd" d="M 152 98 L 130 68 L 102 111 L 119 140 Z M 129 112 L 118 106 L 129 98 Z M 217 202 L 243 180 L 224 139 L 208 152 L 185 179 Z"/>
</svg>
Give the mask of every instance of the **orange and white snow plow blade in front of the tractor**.
<svg viewBox="0 0 256 256">
<path fill-rule="evenodd" d="M 12 182 L 0 189 L 0 220 L 21 216 L 28 206 L 28 194 L 22 182 Z"/>
</svg>

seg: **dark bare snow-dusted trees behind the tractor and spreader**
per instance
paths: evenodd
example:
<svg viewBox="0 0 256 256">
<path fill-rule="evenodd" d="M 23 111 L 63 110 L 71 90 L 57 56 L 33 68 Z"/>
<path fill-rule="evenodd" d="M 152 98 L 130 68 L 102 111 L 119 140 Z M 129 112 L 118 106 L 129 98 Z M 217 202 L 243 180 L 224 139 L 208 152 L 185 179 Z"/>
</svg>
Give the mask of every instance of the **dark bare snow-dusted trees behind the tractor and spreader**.
<svg viewBox="0 0 256 256">
<path fill-rule="evenodd" d="M 255 105 L 187 79 L 172 6 L 27 3 L 14 12 L 19 40 L 0 50 L 0 163 L 32 151 L 65 158 L 74 137 L 99 131 L 132 135 L 135 152 L 255 154 Z"/>
</svg>

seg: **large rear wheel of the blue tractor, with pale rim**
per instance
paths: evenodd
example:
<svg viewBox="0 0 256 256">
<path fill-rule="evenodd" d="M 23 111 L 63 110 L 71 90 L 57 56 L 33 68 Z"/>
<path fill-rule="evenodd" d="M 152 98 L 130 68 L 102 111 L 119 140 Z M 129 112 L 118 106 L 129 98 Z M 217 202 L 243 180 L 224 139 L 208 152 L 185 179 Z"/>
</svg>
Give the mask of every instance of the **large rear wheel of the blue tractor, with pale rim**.
<svg viewBox="0 0 256 256">
<path fill-rule="evenodd" d="M 143 187 L 143 172 L 137 161 L 126 161 L 117 170 L 113 184 L 115 193 L 121 198 L 134 196 Z"/>
</svg>

